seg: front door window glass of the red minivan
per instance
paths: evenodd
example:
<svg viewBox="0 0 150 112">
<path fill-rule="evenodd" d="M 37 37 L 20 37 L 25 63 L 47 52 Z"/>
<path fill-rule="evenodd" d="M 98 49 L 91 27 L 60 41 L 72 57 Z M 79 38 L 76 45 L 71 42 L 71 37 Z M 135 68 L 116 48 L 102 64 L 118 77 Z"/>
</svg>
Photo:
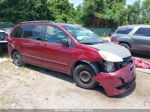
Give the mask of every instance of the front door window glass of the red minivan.
<svg viewBox="0 0 150 112">
<path fill-rule="evenodd" d="M 45 40 L 49 43 L 61 44 L 62 39 L 67 39 L 68 36 L 60 28 L 55 26 L 47 26 Z"/>
</svg>

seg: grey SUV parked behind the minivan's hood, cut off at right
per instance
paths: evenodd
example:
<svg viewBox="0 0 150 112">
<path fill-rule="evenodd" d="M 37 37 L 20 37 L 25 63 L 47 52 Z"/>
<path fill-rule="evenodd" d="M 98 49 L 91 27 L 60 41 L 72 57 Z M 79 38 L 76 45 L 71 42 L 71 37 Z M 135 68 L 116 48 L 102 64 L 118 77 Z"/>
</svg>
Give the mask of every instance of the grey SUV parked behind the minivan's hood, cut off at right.
<svg viewBox="0 0 150 112">
<path fill-rule="evenodd" d="M 150 53 L 150 25 L 121 26 L 111 35 L 111 41 L 132 52 Z"/>
</svg>

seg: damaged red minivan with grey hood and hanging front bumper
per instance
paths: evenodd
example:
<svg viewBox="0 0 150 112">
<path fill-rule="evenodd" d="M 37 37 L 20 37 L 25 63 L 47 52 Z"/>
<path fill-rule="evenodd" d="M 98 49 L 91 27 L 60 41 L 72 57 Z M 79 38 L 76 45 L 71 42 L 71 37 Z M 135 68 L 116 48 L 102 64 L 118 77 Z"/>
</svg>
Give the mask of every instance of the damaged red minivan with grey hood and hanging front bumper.
<svg viewBox="0 0 150 112">
<path fill-rule="evenodd" d="M 123 94 L 135 85 L 135 66 L 128 49 L 82 26 L 23 22 L 14 27 L 7 41 L 16 66 L 28 63 L 59 71 L 86 89 L 100 84 L 108 96 Z"/>
</svg>

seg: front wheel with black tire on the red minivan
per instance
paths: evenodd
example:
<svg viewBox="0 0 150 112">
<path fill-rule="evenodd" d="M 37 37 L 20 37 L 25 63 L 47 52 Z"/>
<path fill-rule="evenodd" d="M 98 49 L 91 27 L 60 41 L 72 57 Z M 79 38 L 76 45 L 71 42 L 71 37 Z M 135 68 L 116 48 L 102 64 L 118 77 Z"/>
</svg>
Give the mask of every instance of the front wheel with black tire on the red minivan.
<svg viewBox="0 0 150 112">
<path fill-rule="evenodd" d="M 78 65 L 73 71 L 73 79 L 77 86 L 85 89 L 92 89 L 96 86 L 97 82 L 92 80 L 95 75 L 93 69 L 86 64 Z"/>
</svg>

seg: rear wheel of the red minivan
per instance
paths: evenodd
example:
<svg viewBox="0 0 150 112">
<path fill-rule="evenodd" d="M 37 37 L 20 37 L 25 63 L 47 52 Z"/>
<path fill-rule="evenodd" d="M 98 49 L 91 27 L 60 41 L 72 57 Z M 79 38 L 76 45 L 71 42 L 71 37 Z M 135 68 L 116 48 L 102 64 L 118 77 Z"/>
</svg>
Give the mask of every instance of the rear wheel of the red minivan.
<svg viewBox="0 0 150 112">
<path fill-rule="evenodd" d="M 21 54 L 20 54 L 19 52 L 15 51 L 15 52 L 13 53 L 12 58 L 13 58 L 13 63 L 14 63 L 16 66 L 21 67 L 21 66 L 24 65 L 24 62 L 23 62 L 22 57 L 21 57 Z"/>
</svg>

